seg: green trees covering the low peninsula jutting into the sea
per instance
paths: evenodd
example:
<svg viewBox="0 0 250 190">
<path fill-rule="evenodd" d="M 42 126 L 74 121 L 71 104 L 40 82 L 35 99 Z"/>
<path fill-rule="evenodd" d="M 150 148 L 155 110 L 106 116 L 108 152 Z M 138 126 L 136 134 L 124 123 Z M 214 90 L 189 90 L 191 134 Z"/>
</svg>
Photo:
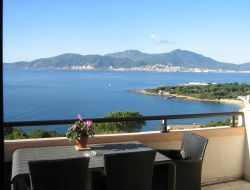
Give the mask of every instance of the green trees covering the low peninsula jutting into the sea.
<svg viewBox="0 0 250 190">
<path fill-rule="evenodd" d="M 198 99 L 220 100 L 237 99 L 238 96 L 250 94 L 249 84 L 224 83 L 208 85 L 181 85 L 181 86 L 161 86 L 154 89 L 146 89 L 149 93 L 159 93 L 162 91 L 169 94 L 189 96 Z"/>
</svg>

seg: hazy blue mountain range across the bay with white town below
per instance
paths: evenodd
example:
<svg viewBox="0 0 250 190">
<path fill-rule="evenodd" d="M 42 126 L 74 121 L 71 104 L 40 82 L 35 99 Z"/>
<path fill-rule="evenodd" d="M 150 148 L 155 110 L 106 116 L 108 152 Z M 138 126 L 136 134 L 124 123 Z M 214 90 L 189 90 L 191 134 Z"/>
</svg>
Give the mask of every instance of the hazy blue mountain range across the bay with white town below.
<svg viewBox="0 0 250 190">
<path fill-rule="evenodd" d="M 66 53 L 50 58 L 41 58 L 34 61 L 20 61 L 5 63 L 8 68 L 32 68 L 32 69 L 133 69 L 151 68 L 178 68 L 200 69 L 212 71 L 250 71 L 250 62 L 244 64 L 232 64 L 219 62 L 203 55 L 186 51 L 174 50 L 168 53 L 148 54 L 138 50 L 126 50 L 123 52 L 106 55 L 80 55 Z M 171 70 L 170 70 L 171 71 Z"/>
</svg>

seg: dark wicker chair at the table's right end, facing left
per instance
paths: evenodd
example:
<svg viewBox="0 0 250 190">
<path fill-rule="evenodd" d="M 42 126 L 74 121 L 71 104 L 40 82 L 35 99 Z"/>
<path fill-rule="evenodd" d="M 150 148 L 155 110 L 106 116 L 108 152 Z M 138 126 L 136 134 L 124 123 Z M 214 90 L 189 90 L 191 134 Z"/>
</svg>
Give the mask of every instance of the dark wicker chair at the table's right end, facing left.
<svg viewBox="0 0 250 190">
<path fill-rule="evenodd" d="M 176 165 L 176 190 L 200 190 L 202 162 L 208 139 L 190 133 L 183 132 L 181 150 L 157 150 L 171 158 Z M 167 189 L 169 185 L 168 166 L 158 166 L 154 170 L 154 183 L 161 184 Z M 171 175 L 170 175 L 171 176 Z M 162 185 L 164 184 L 164 185 Z"/>
</svg>

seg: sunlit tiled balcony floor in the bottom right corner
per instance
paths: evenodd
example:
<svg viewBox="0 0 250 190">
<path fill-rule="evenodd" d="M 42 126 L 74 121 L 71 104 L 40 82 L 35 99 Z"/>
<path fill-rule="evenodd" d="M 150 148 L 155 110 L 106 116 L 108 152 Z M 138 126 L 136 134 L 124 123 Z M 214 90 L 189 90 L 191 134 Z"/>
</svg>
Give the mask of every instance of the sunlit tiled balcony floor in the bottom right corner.
<svg viewBox="0 0 250 190">
<path fill-rule="evenodd" d="M 250 190 L 250 182 L 245 180 L 230 181 L 203 186 L 202 190 Z"/>
</svg>

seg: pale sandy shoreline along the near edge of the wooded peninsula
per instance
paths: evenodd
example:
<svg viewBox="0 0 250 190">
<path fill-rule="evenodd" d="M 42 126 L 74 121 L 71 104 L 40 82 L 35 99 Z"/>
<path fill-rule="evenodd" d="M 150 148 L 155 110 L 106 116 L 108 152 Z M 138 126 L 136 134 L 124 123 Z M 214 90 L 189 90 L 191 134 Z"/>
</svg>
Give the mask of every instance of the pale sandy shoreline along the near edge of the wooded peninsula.
<svg viewBox="0 0 250 190">
<path fill-rule="evenodd" d="M 152 95 L 152 96 L 164 96 L 167 98 L 179 98 L 179 99 L 187 99 L 187 100 L 193 100 L 193 101 L 201 101 L 201 102 L 214 102 L 214 103 L 224 103 L 224 104 L 233 104 L 240 107 L 240 109 L 244 108 L 244 103 L 240 100 L 234 100 L 234 99 L 220 99 L 220 100 L 210 100 L 210 99 L 200 99 L 200 98 L 194 98 L 190 96 L 184 96 L 179 94 L 159 94 L 159 93 L 152 93 L 147 92 L 143 89 L 137 89 L 133 91 L 137 94 L 145 94 L 145 95 Z"/>
</svg>

